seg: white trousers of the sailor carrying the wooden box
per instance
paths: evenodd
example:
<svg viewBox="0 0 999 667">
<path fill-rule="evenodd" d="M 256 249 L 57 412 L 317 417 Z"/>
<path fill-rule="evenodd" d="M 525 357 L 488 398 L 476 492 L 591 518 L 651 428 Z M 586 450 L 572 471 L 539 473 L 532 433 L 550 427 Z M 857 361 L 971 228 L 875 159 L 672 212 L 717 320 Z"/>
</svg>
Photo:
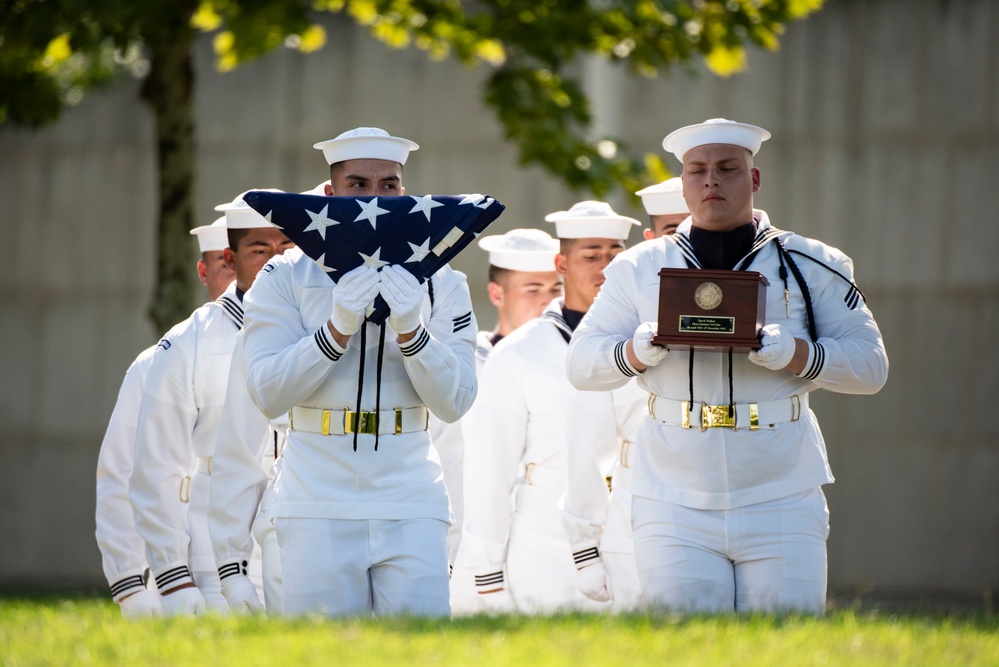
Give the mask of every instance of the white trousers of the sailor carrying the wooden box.
<svg viewBox="0 0 999 667">
<path fill-rule="evenodd" d="M 645 604 L 687 612 L 825 612 L 822 489 L 732 510 L 632 500 Z"/>
</svg>

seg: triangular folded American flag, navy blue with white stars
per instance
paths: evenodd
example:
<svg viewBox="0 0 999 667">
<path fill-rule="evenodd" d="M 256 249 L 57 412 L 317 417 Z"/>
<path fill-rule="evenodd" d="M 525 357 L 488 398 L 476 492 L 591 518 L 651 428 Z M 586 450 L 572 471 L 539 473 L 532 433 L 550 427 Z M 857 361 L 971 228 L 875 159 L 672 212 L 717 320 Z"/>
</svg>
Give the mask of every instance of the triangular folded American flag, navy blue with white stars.
<svg viewBox="0 0 999 667">
<path fill-rule="evenodd" d="M 488 195 L 320 197 L 251 190 L 243 200 L 267 217 L 337 282 L 362 264 L 399 264 L 422 283 L 505 208 Z M 389 308 L 378 296 L 368 320 Z"/>
</svg>

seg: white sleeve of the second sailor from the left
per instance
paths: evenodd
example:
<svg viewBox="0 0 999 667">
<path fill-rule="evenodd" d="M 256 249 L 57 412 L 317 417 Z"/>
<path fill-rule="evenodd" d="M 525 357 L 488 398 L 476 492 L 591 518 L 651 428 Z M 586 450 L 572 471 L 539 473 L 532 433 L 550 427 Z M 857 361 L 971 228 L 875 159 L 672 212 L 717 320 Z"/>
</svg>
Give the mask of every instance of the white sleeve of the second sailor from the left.
<svg viewBox="0 0 999 667">
<path fill-rule="evenodd" d="M 142 394 L 129 497 L 154 576 L 188 565 L 187 498 L 198 418 L 193 328 L 170 336 L 153 355 Z M 188 575 L 189 576 L 189 575 Z M 171 583 L 186 583 L 180 577 Z"/>
</svg>

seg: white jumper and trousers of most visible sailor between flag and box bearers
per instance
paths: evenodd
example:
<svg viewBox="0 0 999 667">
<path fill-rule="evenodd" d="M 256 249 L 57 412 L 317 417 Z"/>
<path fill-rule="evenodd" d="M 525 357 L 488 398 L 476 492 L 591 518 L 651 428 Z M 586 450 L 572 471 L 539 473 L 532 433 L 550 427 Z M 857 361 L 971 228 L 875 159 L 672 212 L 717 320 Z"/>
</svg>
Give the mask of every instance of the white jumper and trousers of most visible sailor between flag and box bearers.
<svg viewBox="0 0 999 667">
<path fill-rule="evenodd" d="M 578 590 L 559 511 L 566 409 L 577 391 L 564 372 L 572 332 L 561 304 L 553 301 L 496 345 L 462 423 L 469 444 L 459 560 L 474 569 L 481 592 L 505 587 L 523 613 L 606 608 Z M 613 419 L 609 411 L 589 413 L 581 427 L 599 429 Z"/>
</svg>

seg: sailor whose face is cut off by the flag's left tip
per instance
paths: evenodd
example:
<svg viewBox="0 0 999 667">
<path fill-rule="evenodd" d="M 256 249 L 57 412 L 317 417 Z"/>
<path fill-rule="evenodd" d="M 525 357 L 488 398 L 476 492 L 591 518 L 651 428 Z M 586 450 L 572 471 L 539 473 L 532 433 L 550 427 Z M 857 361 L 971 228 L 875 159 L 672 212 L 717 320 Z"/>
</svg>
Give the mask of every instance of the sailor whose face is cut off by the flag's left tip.
<svg viewBox="0 0 999 667">
<path fill-rule="evenodd" d="M 229 610 L 208 537 L 210 455 L 243 294 L 268 259 L 292 246 L 248 211 L 226 216 L 235 282 L 160 340 L 142 395 L 129 497 L 165 615 Z"/>
</svg>

